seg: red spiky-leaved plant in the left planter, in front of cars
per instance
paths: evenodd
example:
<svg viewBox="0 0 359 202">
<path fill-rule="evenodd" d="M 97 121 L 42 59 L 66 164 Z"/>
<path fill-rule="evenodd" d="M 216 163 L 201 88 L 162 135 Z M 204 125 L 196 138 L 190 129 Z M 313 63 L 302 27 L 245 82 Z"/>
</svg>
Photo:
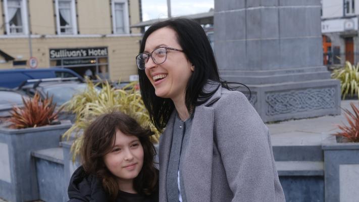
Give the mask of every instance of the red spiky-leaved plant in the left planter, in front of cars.
<svg viewBox="0 0 359 202">
<path fill-rule="evenodd" d="M 34 97 L 25 99 L 22 98 L 24 107 L 19 108 L 14 106 L 10 112 L 11 118 L 9 121 L 12 123 L 10 128 L 30 128 L 48 125 L 54 122 L 58 118 L 58 110 L 55 113 L 56 103 L 53 103 L 53 96 L 41 100 L 38 92 Z"/>
</svg>

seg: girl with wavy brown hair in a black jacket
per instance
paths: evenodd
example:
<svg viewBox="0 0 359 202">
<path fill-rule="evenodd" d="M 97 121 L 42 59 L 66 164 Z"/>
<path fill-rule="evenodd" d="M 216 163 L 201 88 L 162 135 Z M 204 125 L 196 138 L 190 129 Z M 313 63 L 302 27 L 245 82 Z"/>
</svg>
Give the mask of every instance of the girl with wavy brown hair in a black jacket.
<svg viewBox="0 0 359 202">
<path fill-rule="evenodd" d="M 120 112 L 99 116 L 84 133 L 83 164 L 71 177 L 69 201 L 158 201 L 152 134 Z"/>
</svg>

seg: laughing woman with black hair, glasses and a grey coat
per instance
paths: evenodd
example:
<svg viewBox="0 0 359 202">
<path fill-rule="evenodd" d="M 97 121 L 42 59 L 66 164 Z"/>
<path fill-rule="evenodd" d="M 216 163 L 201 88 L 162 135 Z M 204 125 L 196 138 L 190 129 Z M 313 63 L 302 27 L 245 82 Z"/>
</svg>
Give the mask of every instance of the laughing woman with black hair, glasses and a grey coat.
<svg viewBox="0 0 359 202">
<path fill-rule="evenodd" d="M 231 50 L 229 50 L 231 51 Z M 136 57 L 144 104 L 161 136 L 160 201 L 284 201 L 268 128 L 219 77 L 192 20 L 145 32 Z"/>
</svg>

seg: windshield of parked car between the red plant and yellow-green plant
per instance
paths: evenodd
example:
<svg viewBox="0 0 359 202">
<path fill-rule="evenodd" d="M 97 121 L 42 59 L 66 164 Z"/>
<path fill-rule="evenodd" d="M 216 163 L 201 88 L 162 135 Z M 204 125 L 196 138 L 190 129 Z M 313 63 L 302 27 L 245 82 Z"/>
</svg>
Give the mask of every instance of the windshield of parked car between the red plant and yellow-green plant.
<svg viewBox="0 0 359 202">
<path fill-rule="evenodd" d="M 72 95 L 83 92 L 87 85 L 85 83 L 75 83 L 72 85 L 53 85 L 44 86 L 43 90 L 48 96 L 54 95 L 54 103 L 60 106 L 70 100 Z"/>
</svg>

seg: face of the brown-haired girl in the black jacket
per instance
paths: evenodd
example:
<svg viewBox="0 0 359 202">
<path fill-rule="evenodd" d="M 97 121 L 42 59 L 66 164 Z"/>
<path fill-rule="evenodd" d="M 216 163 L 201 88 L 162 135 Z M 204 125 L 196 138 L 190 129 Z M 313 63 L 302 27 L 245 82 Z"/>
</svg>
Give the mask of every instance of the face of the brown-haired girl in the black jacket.
<svg viewBox="0 0 359 202">
<path fill-rule="evenodd" d="M 115 144 L 104 162 L 119 181 L 133 181 L 143 165 L 143 147 L 136 136 L 126 135 L 116 130 Z"/>
</svg>

